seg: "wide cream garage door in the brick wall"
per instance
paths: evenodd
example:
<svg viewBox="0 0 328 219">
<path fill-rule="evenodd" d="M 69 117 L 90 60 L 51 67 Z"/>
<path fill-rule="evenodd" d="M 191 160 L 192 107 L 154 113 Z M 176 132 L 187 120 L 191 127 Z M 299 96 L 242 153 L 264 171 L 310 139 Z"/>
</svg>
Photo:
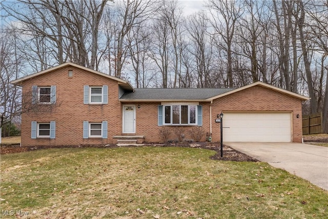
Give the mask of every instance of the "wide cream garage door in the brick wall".
<svg viewBox="0 0 328 219">
<path fill-rule="evenodd" d="M 291 142 L 290 112 L 223 112 L 223 142 Z"/>
</svg>

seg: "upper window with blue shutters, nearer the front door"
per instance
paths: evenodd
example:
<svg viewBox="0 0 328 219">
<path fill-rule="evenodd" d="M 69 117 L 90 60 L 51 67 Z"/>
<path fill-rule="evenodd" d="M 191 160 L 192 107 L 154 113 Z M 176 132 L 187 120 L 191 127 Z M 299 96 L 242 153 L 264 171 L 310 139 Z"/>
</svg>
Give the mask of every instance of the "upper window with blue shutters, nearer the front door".
<svg viewBox="0 0 328 219">
<path fill-rule="evenodd" d="M 108 86 L 84 86 L 84 104 L 108 104 Z"/>
</svg>

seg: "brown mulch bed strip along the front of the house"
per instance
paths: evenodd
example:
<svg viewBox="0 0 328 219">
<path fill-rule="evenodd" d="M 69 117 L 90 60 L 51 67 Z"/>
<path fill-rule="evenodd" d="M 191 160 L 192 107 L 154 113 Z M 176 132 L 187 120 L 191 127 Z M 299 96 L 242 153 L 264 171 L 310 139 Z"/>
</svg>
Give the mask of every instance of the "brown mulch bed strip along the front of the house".
<svg viewBox="0 0 328 219">
<path fill-rule="evenodd" d="M 216 151 L 216 154 L 211 156 L 210 158 L 213 160 L 221 160 L 221 161 L 248 161 L 248 162 L 257 162 L 255 158 L 248 156 L 240 151 L 236 151 L 233 148 L 223 145 L 223 157 L 221 157 L 220 143 L 208 143 L 208 142 L 197 142 L 197 143 L 168 143 L 168 144 L 144 144 L 145 146 L 153 146 L 153 147 L 191 147 L 191 148 L 202 148 L 202 149 L 210 149 Z M 6 145 L 1 146 L 0 153 L 8 154 L 8 153 L 18 153 L 18 152 L 26 152 L 33 151 L 38 149 L 46 149 L 46 148 L 83 148 L 83 147 L 97 147 L 97 148 L 116 148 L 119 147 L 117 145 L 78 145 L 78 146 L 44 146 L 44 147 L 20 147 L 19 145 Z M 139 146 L 124 146 L 124 147 L 139 147 Z"/>
</svg>

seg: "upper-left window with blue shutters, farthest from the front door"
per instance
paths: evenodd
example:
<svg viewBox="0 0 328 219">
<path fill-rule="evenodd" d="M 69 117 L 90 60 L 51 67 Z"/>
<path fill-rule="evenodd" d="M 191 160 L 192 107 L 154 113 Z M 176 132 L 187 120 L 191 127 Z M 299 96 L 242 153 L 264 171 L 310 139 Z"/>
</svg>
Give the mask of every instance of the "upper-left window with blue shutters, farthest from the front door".
<svg viewBox="0 0 328 219">
<path fill-rule="evenodd" d="M 55 104 L 56 86 L 32 86 L 32 104 Z"/>
</svg>

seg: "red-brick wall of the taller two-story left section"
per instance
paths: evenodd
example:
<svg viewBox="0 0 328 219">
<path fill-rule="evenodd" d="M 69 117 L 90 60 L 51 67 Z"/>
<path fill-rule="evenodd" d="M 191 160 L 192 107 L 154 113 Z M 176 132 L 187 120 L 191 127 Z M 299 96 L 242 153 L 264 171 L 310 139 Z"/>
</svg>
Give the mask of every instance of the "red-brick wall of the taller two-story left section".
<svg viewBox="0 0 328 219">
<path fill-rule="evenodd" d="M 73 70 L 73 77 L 68 77 Z M 113 143 L 112 136 L 121 134 L 121 104 L 118 101 L 118 82 L 88 71 L 64 67 L 27 80 L 23 93 L 31 93 L 33 85 L 56 86 L 56 106 L 45 112 L 30 112 L 22 115 L 22 146 L 48 145 L 93 145 Z M 108 104 L 88 105 L 83 103 L 85 85 L 108 85 Z M 42 107 L 42 106 L 41 106 Z M 31 139 L 31 122 L 56 122 L 56 138 Z M 108 138 L 83 138 L 83 121 L 108 121 Z"/>
</svg>

